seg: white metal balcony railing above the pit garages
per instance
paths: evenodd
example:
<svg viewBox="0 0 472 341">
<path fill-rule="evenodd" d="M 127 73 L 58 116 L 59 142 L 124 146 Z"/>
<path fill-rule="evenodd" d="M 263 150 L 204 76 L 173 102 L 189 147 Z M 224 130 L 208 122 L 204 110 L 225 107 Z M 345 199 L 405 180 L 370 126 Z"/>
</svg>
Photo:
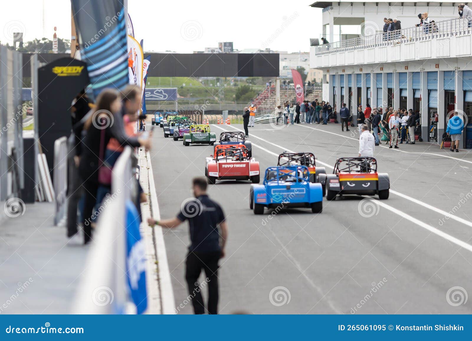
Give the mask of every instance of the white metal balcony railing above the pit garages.
<svg viewBox="0 0 472 341">
<path fill-rule="evenodd" d="M 347 39 L 323 44 L 315 48 L 315 55 L 365 50 L 395 44 L 421 42 L 472 34 L 472 19 L 455 18 L 401 30 L 372 34 L 366 37 Z"/>
</svg>

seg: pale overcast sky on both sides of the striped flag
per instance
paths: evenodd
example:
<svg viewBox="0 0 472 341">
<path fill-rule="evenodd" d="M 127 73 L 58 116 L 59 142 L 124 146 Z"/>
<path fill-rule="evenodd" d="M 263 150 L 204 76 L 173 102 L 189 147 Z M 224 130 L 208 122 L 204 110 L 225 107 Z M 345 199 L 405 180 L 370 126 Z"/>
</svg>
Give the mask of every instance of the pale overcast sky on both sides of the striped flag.
<svg viewBox="0 0 472 341">
<path fill-rule="evenodd" d="M 97 1 L 97 0 L 92 0 Z M 289 52 L 309 51 L 310 38 L 321 34 L 321 9 L 309 0 L 128 0 L 135 37 L 144 39 L 144 50 L 191 53 L 218 42 L 234 42 L 238 50 L 270 48 Z M 14 31 L 24 41 L 46 36 L 70 39 L 70 1 L 2 1 L 2 44 L 11 45 Z"/>
</svg>

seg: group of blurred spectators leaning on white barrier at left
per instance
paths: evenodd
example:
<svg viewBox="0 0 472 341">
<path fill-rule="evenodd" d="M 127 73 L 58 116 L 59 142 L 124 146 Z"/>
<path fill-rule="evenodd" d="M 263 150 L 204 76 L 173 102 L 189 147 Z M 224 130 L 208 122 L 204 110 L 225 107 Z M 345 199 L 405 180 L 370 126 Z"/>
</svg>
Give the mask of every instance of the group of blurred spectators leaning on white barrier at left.
<svg viewBox="0 0 472 341">
<path fill-rule="evenodd" d="M 112 169 L 124 146 L 149 149 L 151 140 L 144 130 L 136 129 L 141 105 L 141 89 L 128 85 L 123 91 L 103 90 L 93 104 L 81 91 L 74 100 L 72 112 L 73 133 L 69 138 L 72 155 L 69 176 L 67 237 L 77 243 L 84 232 L 84 244 L 92 239 L 95 220 L 101 205 L 111 192 Z M 135 133 L 135 131 L 138 131 Z M 145 201 L 136 180 L 135 206 Z M 77 215 L 77 208 L 80 215 Z M 80 216 L 80 219 L 77 217 Z"/>
</svg>

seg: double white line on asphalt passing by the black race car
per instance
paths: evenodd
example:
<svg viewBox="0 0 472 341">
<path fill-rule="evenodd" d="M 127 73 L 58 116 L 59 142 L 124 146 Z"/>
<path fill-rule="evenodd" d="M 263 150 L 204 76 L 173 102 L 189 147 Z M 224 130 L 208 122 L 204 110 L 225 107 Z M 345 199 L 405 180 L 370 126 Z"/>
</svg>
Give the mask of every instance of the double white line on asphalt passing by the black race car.
<svg viewBox="0 0 472 341">
<path fill-rule="evenodd" d="M 235 126 L 231 126 L 231 125 L 229 125 L 229 126 L 230 126 L 231 128 L 236 129 L 236 130 L 240 130 L 240 129 L 236 128 Z M 216 125 L 216 127 L 219 128 L 218 125 Z M 224 131 L 227 131 L 226 129 L 223 129 L 223 128 L 220 128 L 220 129 L 221 129 L 221 130 L 224 130 Z M 251 136 L 253 136 L 253 137 L 255 137 L 255 138 L 257 138 L 257 139 L 259 139 L 259 140 L 261 140 L 261 141 L 270 143 L 271 145 L 276 146 L 276 147 L 278 147 L 278 148 L 281 148 L 282 150 L 286 150 L 286 151 L 289 151 L 289 152 L 291 152 L 291 153 L 294 153 L 293 150 L 285 149 L 284 147 L 279 146 L 278 144 L 272 143 L 272 142 L 270 142 L 270 141 L 267 141 L 267 140 L 265 140 L 265 139 L 262 139 L 262 138 L 260 138 L 260 137 L 258 137 L 258 136 L 253 135 L 253 134 L 252 134 Z M 261 147 L 261 146 L 258 146 L 258 145 L 254 144 L 254 143 L 252 143 L 252 144 L 253 144 L 253 146 L 259 147 L 261 150 L 264 150 L 264 151 L 266 151 L 266 152 L 268 152 L 268 153 L 270 153 L 270 154 L 272 154 L 272 155 L 278 156 L 278 154 L 276 154 L 276 153 L 274 153 L 274 152 L 272 152 L 272 151 L 270 151 L 270 150 L 267 150 L 267 149 L 265 149 L 265 148 L 263 148 L 263 147 Z M 321 162 L 320 160 L 317 160 L 317 162 L 319 162 L 320 164 L 322 164 L 322 165 L 324 165 L 324 166 L 326 166 L 326 167 L 329 167 L 329 168 L 333 169 L 333 166 L 330 166 L 330 165 L 328 165 L 327 163 Z M 421 202 L 420 200 L 416 200 L 416 199 L 414 199 L 414 198 L 408 197 L 408 196 L 405 195 L 405 194 L 402 194 L 402 193 L 399 193 L 399 192 L 396 192 L 396 191 L 393 191 L 393 190 L 390 190 L 390 192 L 392 192 L 392 194 L 399 195 L 399 196 L 403 197 L 404 199 L 411 200 L 411 201 L 413 201 L 413 202 L 415 202 L 415 203 L 417 203 L 417 204 L 419 204 L 419 205 L 421 205 L 421 206 L 423 206 L 423 207 L 425 207 L 425 208 L 428 208 L 428 209 L 430 209 L 430 210 L 432 210 L 432 211 L 434 211 L 434 212 L 436 212 L 436 213 L 444 214 L 445 216 L 448 216 L 449 218 L 454 219 L 454 220 L 456 220 L 456 221 L 458 221 L 458 222 L 460 222 L 460 223 L 463 223 L 463 224 L 468 225 L 468 226 L 472 226 L 472 223 L 471 223 L 471 222 L 469 222 L 469 221 L 467 221 L 467 220 L 465 220 L 465 219 L 456 217 L 456 216 L 454 216 L 454 215 L 449 215 L 449 213 L 447 213 L 446 211 L 440 210 L 440 209 L 438 209 L 438 208 L 435 208 L 434 206 L 431 206 L 431 205 L 429 205 L 429 204 L 423 203 L 423 202 Z M 400 210 L 398 210 L 398 209 L 396 209 L 396 208 L 394 208 L 394 207 L 392 207 L 392 206 L 390 206 L 390 205 L 388 205 L 388 204 L 382 202 L 381 200 L 375 200 L 375 199 L 373 199 L 373 198 L 371 198 L 371 197 L 368 197 L 368 198 L 370 198 L 370 199 L 372 199 L 373 201 L 375 201 L 376 203 L 378 203 L 379 206 L 381 206 L 381 207 L 383 207 L 383 208 L 387 208 L 389 211 L 391 211 L 391 212 L 393 212 L 393 213 L 395 213 L 395 214 L 397 214 L 397 215 L 399 215 L 399 216 L 401 216 L 401 217 L 403 217 L 403 218 L 405 218 L 405 219 L 411 221 L 412 223 L 414 223 L 414 224 L 416 224 L 416 225 L 418 225 L 418 226 L 420 226 L 420 227 L 422 227 L 422 228 L 424 228 L 424 229 L 430 231 L 431 233 L 434 233 L 434 234 L 438 235 L 439 237 L 442 237 L 442 238 L 446 239 L 447 241 L 450 241 L 450 242 L 452 242 L 452 243 L 454 243 L 454 244 L 456 244 L 456 245 L 458 245 L 458 246 L 460 246 L 460 247 L 462 247 L 462 248 L 464 248 L 464 249 L 469 250 L 469 251 L 472 252 L 472 245 L 470 245 L 470 244 L 468 244 L 468 243 L 466 243 L 466 242 L 464 242 L 464 241 L 461 241 L 461 240 L 459 240 L 459 239 L 457 239 L 457 238 L 451 236 L 450 234 L 447 234 L 447 233 L 445 233 L 445 232 L 443 232 L 443 231 L 441 231 L 441 230 L 438 230 L 437 228 L 435 228 L 435 227 L 433 227 L 433 226 L 431 226 L 431 225 L 428 225 L 428 224 L 422 222 L 421 220 L 419 220 L 419 219 L 417 219 L 417 218 L 414 218 L 413 216 L 410 216 L 410 215 L 406 214 L 405 212 L 402 212 L 402 211 L 400 211 Z"/>
</svg>

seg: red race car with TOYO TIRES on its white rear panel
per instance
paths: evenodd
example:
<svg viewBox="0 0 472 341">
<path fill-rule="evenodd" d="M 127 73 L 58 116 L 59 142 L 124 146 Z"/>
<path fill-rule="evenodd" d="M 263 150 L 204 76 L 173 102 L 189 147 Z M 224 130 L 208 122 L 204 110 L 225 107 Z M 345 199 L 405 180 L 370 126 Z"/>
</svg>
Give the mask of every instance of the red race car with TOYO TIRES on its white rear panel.
<svg viewBox="0 0 472 341">
<path fill-rule="evenodd" d="M 213 156 L 206 158 L 205 176 L 208 183 L 217 180 L 251 180 L 259 183 L 259 162 L 248 156 L 244 144 L 218 144 Z"/>
</svg>

